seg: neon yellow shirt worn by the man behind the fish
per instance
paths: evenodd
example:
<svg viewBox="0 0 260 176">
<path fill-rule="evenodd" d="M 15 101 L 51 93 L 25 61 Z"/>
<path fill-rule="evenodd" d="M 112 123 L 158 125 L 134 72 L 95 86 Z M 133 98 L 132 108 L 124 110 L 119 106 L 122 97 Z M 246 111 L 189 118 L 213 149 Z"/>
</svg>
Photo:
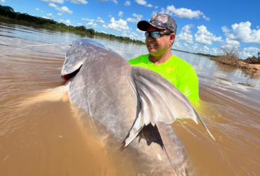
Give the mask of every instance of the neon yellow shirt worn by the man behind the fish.
<svg viewBox="0 0 260 176">
<path fill-rule="evenodd" d="M 149 61 L 149 54 L 138 56 L 129 60 L 133 66 L 148 68 L 162 77 L 166 78 L 169 82 L 185 94 L 190 101 L 199 100 L 199 81 L 193 66 L 183 61 L 177 56 L 171 58 L 162 64 L 155 65 Z"/>
</svg>

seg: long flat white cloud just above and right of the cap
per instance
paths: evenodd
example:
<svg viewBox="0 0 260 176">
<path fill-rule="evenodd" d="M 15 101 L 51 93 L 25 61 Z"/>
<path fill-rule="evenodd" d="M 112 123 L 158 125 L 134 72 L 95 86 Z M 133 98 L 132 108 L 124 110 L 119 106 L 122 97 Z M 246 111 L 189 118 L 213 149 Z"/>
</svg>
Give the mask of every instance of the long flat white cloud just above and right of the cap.
<svg viewBox="0 0 260 176">
<path fill-rule="evenodd" d="M 207 18 L 201 11 L 192 11 L 188 8 L 175 8 L 173 5 L 171 5 L 167 6 L 167 11 L 171 11 L 179 18 L 200 18 L 200 15 L 202 15 L 204 19 L 209 20 L 209 18 Z"/>
</svg>

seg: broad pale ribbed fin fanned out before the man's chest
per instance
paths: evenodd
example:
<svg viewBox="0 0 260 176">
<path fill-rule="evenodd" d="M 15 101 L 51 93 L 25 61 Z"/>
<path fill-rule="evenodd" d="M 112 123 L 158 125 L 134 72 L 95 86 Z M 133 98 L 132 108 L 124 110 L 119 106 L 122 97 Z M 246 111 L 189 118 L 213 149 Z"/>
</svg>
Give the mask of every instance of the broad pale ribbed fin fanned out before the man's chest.
<svg viewBox="0 0 260 176">
<path fill-rule="evenodd" d="M 177 118 L 191 118 L 196 123 L 198 119 L 207 130 L 189 99 L 164 77 L 140 67 L 131 68 L 131 77 L 141 102 L 141 111 L 125 140 L 125 146 L 149 123 L 155 126 L 156 122 L 171 124 Z M 210 132 L 209 134 L 214 139 Z"/>
</svg>

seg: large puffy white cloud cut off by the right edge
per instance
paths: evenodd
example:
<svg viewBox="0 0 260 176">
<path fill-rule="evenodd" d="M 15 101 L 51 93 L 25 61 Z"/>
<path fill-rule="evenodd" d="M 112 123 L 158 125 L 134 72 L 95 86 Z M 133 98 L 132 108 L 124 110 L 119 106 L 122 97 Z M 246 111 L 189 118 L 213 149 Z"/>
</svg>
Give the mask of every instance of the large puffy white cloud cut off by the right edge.
<svg viewBox="0 0 260 176">
<path fill-rule="evenodd" d="M 232 31 L 226 26 L 221 28 L 228 39 L 245 43 L 260 44 L 260 30 L 251 30 L 251 23 L 249 21 L 239 24 L 235 23 L 234 25 L 231 25 L 231 27 Z"/>
</svg>

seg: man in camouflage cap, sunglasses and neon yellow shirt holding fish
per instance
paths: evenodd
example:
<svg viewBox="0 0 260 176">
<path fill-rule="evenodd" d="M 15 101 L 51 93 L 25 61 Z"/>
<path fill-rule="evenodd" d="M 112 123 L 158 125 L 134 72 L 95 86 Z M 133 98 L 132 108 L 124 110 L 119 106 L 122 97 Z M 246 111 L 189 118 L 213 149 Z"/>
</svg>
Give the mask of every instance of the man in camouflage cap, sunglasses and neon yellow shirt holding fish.
<svg viewBox="0 0 260 176">
<path fill-rule="evenodd" d="M 186 61 L 171 54 L 177 29 L 175 20 L 167 14 L 157 13 L 150 22 L 142 20 L 137 27 L 145 31 L 145 44 L 149 54 L 131 59 L 129 63 L 162 75 L 190 101 L 199 100 L 199 82 L 195 70 Z"/>
</svg>

